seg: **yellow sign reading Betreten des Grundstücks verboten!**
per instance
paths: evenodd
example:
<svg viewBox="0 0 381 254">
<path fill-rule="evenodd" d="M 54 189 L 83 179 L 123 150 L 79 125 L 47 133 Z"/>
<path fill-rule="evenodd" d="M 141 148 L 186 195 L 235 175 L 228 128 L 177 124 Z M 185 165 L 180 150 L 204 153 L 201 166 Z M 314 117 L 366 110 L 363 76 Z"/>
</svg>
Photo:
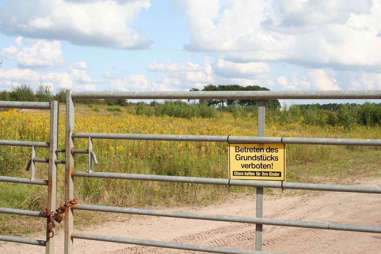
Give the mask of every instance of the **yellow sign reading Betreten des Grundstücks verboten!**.
<svg viewBox="0 0 381 254">
<path fill-rule="evenodd" d="M 286 180 L 284 144 L 229 144 L 229 178 Z"/>
</svg>

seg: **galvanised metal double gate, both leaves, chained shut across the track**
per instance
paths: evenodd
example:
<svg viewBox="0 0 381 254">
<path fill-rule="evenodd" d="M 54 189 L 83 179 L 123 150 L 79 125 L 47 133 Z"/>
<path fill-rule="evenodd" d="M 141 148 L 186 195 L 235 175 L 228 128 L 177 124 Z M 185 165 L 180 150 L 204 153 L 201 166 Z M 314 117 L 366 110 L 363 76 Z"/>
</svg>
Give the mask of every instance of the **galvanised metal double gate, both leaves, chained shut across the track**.
<svg viewBox="0 0 381 254">
<path fill-rule="evenodd" d="M 259 100 L 258 102 L 258 135 L 257 137 L 242 137 L 242 136 L 211 136 L 211 135 L 161 135 L 161 134 L 134 134 L 134 133 L 87 133 L 75 132 L 75 99 L 139 99 L 139 100 L 184 100 L 184 99 L 248 99 Z M 198 183 L 205 185 L 226 185 L 226 186 L 249 186 L 256 188 L 256 214 L 255 217 L 242 217 L 230 215 L 215 215 L 215 214 L 199 214 L 190 212 L 174 212 L 161 211 L 150 209 L 136 209 L 130 207 L 113 207 L 113 206 L 98 206 L 88 205 L 73 202 L 64 207 L 65 211 L 65 254 L 72 254 L 74 239 L 109 241 L 126 244 L 137 244 L 144 246 L 155 246 L 161 248 L 172 248 L 191 251 L 213 252 L 213 253 L 230 253 L 230 254 L 259 254 L 269 253 L 262 251 L 262 234 L 263 225 L 278 225 L 288 227 L 304 227 L 317 228 L 327 230 L 346 230 L 358 232 L 381 233 L 381 226 L 367 226 L 354 224 L 341 224 L 329 222 L 308 222 L 301 220 L 282 220 L 263 218 L 263 188 L 279 188 L 279 189 L 296 189 L 296 190 L 317 190 L 317 191 L 342 191 L 356 193 L 377 193 L 381 194 L 381 187 L 375 186 L 354 186 L 354 185 L 329 185 L 329 184 L 312 184 L 312 183 L 291 183 L 291 182 L 271 182 L 258 180 L 237 180 L 237 179 L 219 179 L 219 178 L 200 178 L 200 177 L 180 177 L 168 175 L 143 175 L 143 174 L 123 174 L 112 172 L 95 172 L 93 171 L 94 164 L 98 164 L 96 155 L 93 152 L 93 139 L 118 139 L 118 140 L 155 140 L 155 141 L 205 141 L 205 142 L 225 142 L 225 143 L 267 143 L 267 144 L 304 144 L 304 145 L 345 145 L 345 146 L 381 146 L 381 140 L 376 139 L 343 139 L 343 138 L 296 138 L 296 137 L 265 137 L 265 100 L 266 99 L 334 99 L 334 100 L 352 100 L 352 99 L 381 99 L 381 91 L 229 91 L 229 92 L 75 92 L 67 90 L 66 92 L 66 174 L 65 174 L 65 200 L 72 201 L 74 196 L 75 178 L 77 177 L 94 177 L 94 178 L 109 178 L 123 180 L 142 180 L 142 181 L 159 181 L 173 183 Z M 37 103 L 34 103 L 37 104 Z M 53 101 L 44 105 L 46 109 L 53 108 Z M 4 104 L 0 103 L 0 106 Z M 19 108 L 20 105 L 10 103 L 7 108 Z M 32 108 L 32 106 L 28 106 Z M 58 106 L 57 106 L 58 108 Z M 9 177 L 0 177 L 1 181 L 35 183 L 48 185 L 49 190 L 52 189 L 50 198 L 48 198 L 48 210 L 55 210 L 55 184 L 56 184 L 56 153 L 57 150 L 57 123 L 58 111 L 55 109 L 51 114 L 51 119 L 56 119 L 56 122 L 51 120 L 50 143 L 36 143 L 27 141 L 5 141 L 1 140 L 0 145 L 24 145 L 24 146 L 41 146 L 50 147 L 49 162 L 49 180 L 31 179 L 9 179 Z M 52 131 L 53 129 L 53 131 Z M 53 137 L 55 136 L 55 137 Z M 75 149 L 75 139 L 85 138 L 88 140 L 88 150 Z M 51 146 L 49 146 L 51 145 Z M 75 170 L 75 154 L 86 153 L 89 156 L 88 171 Z M 33 159 L 32 159 L 33 161 Z M 61 162 L 62 163 L 62 162 Z M 63 162 L 65 163 L 65 162 Z M 78 162 L 77 162 L 78 163 Z M 103 167 L 107 169 L 107 165 Z M 52 171 L 52 172 L 50 172 Z M 54 172 L 53 172 L 54 171 Z M 37 181 L 39 181 L 37 183 Z M 50 187 L 51 186 L 51 187 Z M 54 189 L 54 191 L 53 191 Z M 0 212 L 13 214 L 24 214 L 38 217 L 45 217 L 41 212 L 26 212 L 17 209 L 0 208 Z M 255 232 L 255 250 L 222 248 L 219 246 L 200 246 L 195 244 L 172 243 L 163 241 L 153 241 L 134 238 L 122 238 L 117 236 L 93 235 L 82 233 L 74 230 L 74 210 L 85 211 L 101 211 L 111 213 L 138 214 L 163 216 L 174 218 L 186 218 L 197 220 L 214 220 L 224 222 L 251 223 L 256 225 Z M 54 228 L 53 228 L 54 229 Z M 48 239 L 49 230 L 47 229 L 47 240 L 20 240 L 19 238 L 0 236 L 0 240 L 16 241 L 21 243 L 45 245 L 46 253 L 54 252 L 54 237 Z M 52 246 L 53 248 L 48 248 Z"/>
</svg>

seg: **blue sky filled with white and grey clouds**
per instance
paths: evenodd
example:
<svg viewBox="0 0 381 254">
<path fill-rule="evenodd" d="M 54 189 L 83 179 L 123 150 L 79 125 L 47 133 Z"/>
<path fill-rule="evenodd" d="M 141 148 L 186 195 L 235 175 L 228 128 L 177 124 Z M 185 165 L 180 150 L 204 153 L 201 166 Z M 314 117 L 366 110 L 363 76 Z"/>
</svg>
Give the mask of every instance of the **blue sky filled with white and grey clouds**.
<svg viewBox="0 0 381 254">
<path fill-rule="evenodd" d="M 381 1 L 0 0 L 0 59 L 0 91 L 381 90 Z"/>
</svg>

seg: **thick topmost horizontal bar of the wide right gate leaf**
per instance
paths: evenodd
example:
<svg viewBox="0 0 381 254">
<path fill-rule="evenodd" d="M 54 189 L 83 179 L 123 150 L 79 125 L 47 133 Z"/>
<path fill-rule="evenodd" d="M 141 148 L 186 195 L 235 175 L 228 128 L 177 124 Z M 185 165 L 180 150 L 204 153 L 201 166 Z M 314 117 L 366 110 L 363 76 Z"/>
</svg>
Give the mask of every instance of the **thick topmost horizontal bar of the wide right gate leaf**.
<svg viewBox="0 0 381 254">
<path fill-rule="evenodd" d="M 71 92 L 73 99 L 381 99 L 380 90 Z"/>
</svg>

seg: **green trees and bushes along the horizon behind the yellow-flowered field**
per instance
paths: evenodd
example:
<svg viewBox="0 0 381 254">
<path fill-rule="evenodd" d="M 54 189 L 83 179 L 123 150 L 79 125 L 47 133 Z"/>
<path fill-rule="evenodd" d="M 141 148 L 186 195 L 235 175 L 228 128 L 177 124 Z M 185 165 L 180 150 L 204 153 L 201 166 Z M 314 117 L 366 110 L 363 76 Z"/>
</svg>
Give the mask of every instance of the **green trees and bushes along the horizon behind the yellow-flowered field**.
<svg viewBox="0 0 381 254">
<path fill-rule="evenodd" d="M 266 87 L 240 85 L 206 85 L 202 91 L 263 91 Z M 192 88 L 190 91 L 199 91 Z M 0 93 L 2 101 L 42 101 L 57 100 L 66 103 L 66 88 L 60 88 L 55 94 L 50 87 L 40 84 L 34 91 L 30 85 L 21 83 L 11 85 L 11 90 Z M 108 106 L 134 106 L 136 114 L 147 116 L 173 116 L 191 119 L 192 117 L 219 118 L 222 112 L 231 112 L 235 119 L 257 117 L 258 100 L 199 100 L 188 103 L 181 100 L 163 102 L 132 103 L 123 99 L 76 99 L 76 104 L 105 104 Z M 320 126 L 344 126 L 353 124 L 375 126 L 381 125 L 381 103 L 328 103 L 328 104 L 292 104 L 280 106 L 278 100 L 266 100 L 266 121 L 280 124 L 299 123 Z"/>
</svg>

